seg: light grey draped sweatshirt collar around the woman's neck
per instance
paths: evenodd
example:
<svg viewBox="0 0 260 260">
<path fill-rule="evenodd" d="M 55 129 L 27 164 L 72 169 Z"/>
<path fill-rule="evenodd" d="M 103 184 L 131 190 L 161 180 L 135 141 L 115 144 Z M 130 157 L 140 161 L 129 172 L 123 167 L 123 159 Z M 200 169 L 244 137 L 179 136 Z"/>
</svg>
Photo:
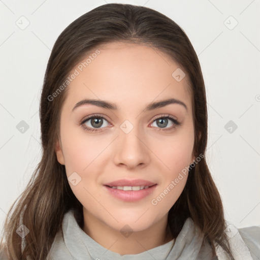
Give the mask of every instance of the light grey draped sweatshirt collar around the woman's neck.
<svg viewBox="0 0 260 260">
<path fill-rule="evenodd" d="M 71 255 L 78 260 L 86 259 L 156 259 L 156 260 L 186 260 L 196 259 L 202 242 L 203 236 L 197 226 L 193 224 L 191 218 L 187 218 L 183 228 L 175 240 L 144 251 L 139 254 L 120 255 L 113 252 L 89 237 L 78 225 L 73 209 L 69 210 L 62 222 L 63 238 L 66 247 Z M 174 245 L 173 245 L 174 244 Z"/>
</svg>

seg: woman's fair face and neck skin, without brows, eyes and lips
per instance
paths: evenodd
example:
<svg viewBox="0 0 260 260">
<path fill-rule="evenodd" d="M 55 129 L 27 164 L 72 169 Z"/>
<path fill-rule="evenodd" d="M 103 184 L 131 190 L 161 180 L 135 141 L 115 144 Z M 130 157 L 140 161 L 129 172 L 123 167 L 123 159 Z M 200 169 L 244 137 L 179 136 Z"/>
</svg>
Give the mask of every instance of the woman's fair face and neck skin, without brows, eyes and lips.
<svg viewBox="0 0 260 260">
<path fill-rule="evenodd" d="M 151 200 L 194 160 L 188 77 L 177 82 L 172 73 L 178 64 L 151 47 L 116 42 L 99 50 L 101 53 L 68 86 L 55 151 L 67 177 L 73 172 L 81 177 L 77 185 L 69 183 L 83 205 L 84 232 L 111 251 L 137 254 L 173 239 L 171 235 L 165 238 L 168 212 L 179 198 L 187 175 L 157 205 Z M 113 102 L 119 109 L 88 104 L 72 112 L 85 98 Z M 170 104 L 143 111 L 147 104 L 169 98 L 184 102 L 187 110 Z M 85 122 L 85 126 L 98 129 L 87 132 L 79 123 L 93 114 L 105 119 L 99 128 L 91 119 Z M 168 124 L 160 127 L 156 123 L 160 115 L 172 115 L 181 125 L 172 128 L 174 123 L 168 119 Z M 125 120 L 134 126 L 128 134 L 120 129 Z M 168 131 L 163 130 L 166 128 Z M 140 201 L 124 202 L 103 186 L 122 178 L 145 179 L 157 186 Z M 120 232 L 125 224 L 133 231 L 128 237 Z"/>
</svg>

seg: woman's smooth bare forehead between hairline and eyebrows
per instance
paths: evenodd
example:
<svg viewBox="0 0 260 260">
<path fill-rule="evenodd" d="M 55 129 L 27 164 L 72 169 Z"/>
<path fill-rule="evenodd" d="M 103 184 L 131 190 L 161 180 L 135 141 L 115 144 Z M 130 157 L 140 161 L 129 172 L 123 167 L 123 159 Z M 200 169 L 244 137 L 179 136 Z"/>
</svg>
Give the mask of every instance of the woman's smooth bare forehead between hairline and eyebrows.
<svg viewBox="0 0 260 260">
<path fill-rule="evenodd" d="M 175 61 L 153 47 L 109 43 L 92 50 L 73 68 L 71 73 L 77 71 L 78 75 L 68 86 L 67 99 L 71 105 L 83 98 L 95 98 L 136 106 L 137 102 L 176 98 L 190 111 L 188 77 L 181 81 L 174 78 L 179 70 Z"/>
</svg>

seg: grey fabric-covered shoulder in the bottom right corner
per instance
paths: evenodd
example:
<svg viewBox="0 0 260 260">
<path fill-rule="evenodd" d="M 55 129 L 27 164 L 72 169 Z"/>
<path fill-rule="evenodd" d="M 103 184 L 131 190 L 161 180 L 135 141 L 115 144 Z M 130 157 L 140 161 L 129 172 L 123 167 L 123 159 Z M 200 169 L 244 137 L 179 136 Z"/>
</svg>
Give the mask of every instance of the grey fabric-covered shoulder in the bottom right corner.
<svg viewBox="0 0 260 260">
<path fill-rule="evenodd" d="M 260 226 L 249 226 L 238 229 L 239 234 L 248 247 L 253 260 L 260 259 Z"/>
</svg>

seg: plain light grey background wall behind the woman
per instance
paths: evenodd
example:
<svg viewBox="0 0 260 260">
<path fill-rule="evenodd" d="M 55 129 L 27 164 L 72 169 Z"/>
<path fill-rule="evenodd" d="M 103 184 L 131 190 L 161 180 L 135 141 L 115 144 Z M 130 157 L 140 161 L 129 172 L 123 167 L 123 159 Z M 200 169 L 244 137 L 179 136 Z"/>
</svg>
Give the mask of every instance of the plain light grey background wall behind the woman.
<svg viewBox="0 0 260 260">
<path fill-rule="evenodd" d="M 41 157 L 39 99 L 53 44 L 76 18 L 106 3 L 115 2 L 0 1 L 1 230 L 9 207 Z M 206 84 L 206 158 L 225 217 L 237 228 L 260 225 L 260 1 L 116 3 L 155 9 L 186 32 L 199 56 Z M 26 25 L 26 20 L 29 25 L 25 29 L 16 25 Z M 23 134 L 16 128 L 21 120 L 29 125 Z M 230 120 L 238 126 L 232 133 L 224 127 Z"/>
</svg>

